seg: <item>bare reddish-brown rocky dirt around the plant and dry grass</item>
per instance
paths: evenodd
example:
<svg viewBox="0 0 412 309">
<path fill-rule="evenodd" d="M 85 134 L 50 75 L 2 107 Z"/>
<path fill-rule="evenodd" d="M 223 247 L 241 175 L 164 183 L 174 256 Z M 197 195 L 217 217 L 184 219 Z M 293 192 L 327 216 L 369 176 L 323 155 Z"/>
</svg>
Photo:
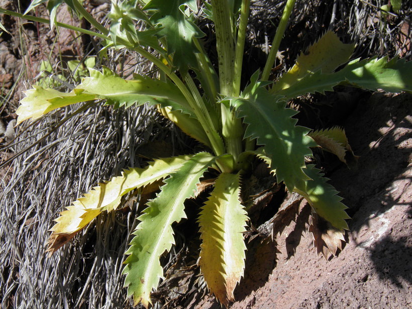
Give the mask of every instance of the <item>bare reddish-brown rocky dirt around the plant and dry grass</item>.
<svg viewBox="0 0 412 309">
<path fill-rule="evenodd" d="M 0 7 L 13 9 L 12 3 L 0 0 Z M 90 9 L 95 15 L 103 14 L 108 4 Z M 60 14 L 62 21 L 76 23 L 70 15 Z M 16 21 L 2 17 L 2 23 L 8 28 Z M 34 42 L 53 39 L 46 28 L 26 25 L 24 29 L 24 37 L 36 37 Z M 74 40 L 71 32 L 62 31 L 53 48 L 55 53 L 71 57 L 84 52 L 79 50 L 83 43 L 82 38 Z M 18 46 L 16 33 L 0 38 L 0 91 L 3 97 L 9 96 L 9 104 L 0 106 L 0 148 L 14 138 L 14 109 L 27 86 L 21 80 L 22 62 L 29 68 L 26 76 L 35 78 L 39 73 L 36 65 L 50 52 L 37 43 L 29 45 L 27 53 Z M 322 98 L 334 99 L 330 93 Z M 343 102 L 348 104 L 344 115 L 335 111 L 327 117 L 345 128 L 354 153 L 360 156 L 358 165 L 348 169 L 330 157 L 324 158 L 324 164 L 349 207 L 348 244 L 329 261 L 319 258 L 307 232 L 310 209 L 301 202 L 296 222 L 274 242 L 256 238 L 248 245 L 245 277 L 235 290 L 237 301 L 231 308 L 412 307 L 412 95 L 351 94 Z M 0 160 L 11 155 L 0 150 Z M 0 171 L 3 185 L 10 173 L 13 166 Z M 192 299 L 176 307 L 221 308 L 213 296 Z"/>
</svg>

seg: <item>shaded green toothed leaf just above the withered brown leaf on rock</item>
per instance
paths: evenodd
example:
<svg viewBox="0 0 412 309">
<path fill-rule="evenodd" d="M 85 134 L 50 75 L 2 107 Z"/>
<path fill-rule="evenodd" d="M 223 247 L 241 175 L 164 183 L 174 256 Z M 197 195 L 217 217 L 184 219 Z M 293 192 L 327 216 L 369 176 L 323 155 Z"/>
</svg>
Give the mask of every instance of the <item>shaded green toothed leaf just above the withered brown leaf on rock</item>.
<svg viewBox="0 0 412 309">
<path fill-rule="evenodd" d="M 341 202 L 342 197 L 337 195 L 338 191 L 331 184 L 326 183 L 328 178 L 323 177 L 321 170 L 315 168 L 314 165 L 307 165 L 304 172 L 311 180 L 299 184 L 295 191 L 302 195 L 315 212 L 330 222 L 335 229 L 349 230 L 345 221 L 345 219 L 350 219 L 345 212 L 347 207 Z"/>
</svg>

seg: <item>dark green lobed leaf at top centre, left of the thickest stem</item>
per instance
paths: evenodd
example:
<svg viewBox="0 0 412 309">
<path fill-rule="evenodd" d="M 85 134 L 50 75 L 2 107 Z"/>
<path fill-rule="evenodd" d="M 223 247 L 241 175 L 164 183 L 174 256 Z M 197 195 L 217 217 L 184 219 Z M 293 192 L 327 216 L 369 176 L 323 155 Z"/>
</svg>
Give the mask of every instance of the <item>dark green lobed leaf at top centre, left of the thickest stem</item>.
<svg viewBox="0 0 412 309">
<path fill-rule="evenodd" d="M 204 35 L 185 14 L 185 6 L 197 11 L 196 0 L 152 0 L 143 8 L 156 10 L 150 20 L 161 25 L 158 36 L 166 38 L 167 52 L 173 54 L 173 65 L 182 71 L 186 71 L 188 65 L 197 65 L 193 38 Z"/>
</svg>

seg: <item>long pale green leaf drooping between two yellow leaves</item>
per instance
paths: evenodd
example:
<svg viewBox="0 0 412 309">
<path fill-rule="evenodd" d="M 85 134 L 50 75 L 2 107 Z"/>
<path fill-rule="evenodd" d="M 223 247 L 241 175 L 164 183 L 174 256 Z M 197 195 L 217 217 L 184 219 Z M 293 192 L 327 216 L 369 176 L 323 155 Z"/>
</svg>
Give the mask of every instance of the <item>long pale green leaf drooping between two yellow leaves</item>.
<svg viewBox="0 0 412 309">
<path fill-rule="evenodd" d="M 193 155 L 170 178 L 158 196 L 148 203 L 148 208 L 139 217 L 141 223 L 133 233 L 135 237 L 127 250 L 124 274 L 128 295 L 133 295 L 135 305 L 142 302 L 147 308 L 150 293 L 163 278 L 159 258 L 169 251 L 174 243 L 171 225 L 186 218 L 183 202 L 193 195 L 196 183 L 203 172 L 215 161 L 209 153 Z"/>
</svg>

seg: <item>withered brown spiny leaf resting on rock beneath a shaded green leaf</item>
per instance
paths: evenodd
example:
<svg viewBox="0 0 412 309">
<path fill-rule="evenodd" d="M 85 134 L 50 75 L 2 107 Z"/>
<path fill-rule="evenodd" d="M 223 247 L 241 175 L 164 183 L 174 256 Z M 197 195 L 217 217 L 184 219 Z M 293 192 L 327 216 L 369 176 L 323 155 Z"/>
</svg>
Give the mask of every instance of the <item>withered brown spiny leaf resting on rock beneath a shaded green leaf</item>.
<svg viewBox="0 0 412 309">
<path fill-rule="evenodd" d="M 314 237 L 314 246 L 318 255 L 322 255 L 326 260 L 331 255 L 336 255 L 338 249 L 342 250 L 342 245 L 346 242 L 342 230 L 335 228 L 316 213 L 312 213 L 309 232 Z"/>
</svg>

